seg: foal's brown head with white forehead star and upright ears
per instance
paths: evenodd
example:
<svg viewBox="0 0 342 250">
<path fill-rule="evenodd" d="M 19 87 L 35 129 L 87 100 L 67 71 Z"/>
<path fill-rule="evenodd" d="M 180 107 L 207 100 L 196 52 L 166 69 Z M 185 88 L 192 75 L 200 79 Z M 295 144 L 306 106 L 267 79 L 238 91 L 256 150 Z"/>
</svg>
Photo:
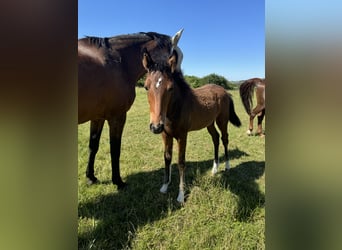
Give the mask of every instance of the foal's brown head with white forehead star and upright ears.
<svg viewBox="0 0 342 250">
<path fill-rule="evenodd" d="M 166 114 L 174 92 L 172 74 L 177 69 L 177 52 L 173 51 L 167 62 L 154 62 L 144 53 L 143 65 L 147 70 L 145 89 L 150 104 L 150 130 L 159 134 L 164 130 Z"/>
</svg>

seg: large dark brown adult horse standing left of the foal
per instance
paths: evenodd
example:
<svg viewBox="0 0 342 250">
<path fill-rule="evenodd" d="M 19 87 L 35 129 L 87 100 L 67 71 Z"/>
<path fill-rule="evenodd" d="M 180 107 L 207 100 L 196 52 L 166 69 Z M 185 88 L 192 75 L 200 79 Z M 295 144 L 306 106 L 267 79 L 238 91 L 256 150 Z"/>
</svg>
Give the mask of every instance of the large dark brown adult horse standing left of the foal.
<svg viewBox="0 0 342 250">
<path fill-rule="evenodd" d="M 105 120 L 109 124 L 112 182 L 125 186 L 120 176 L 120 148 L 126 113 L 135 99 L 135 84 L 145 73 L 141 60 L 149 51 L 159 60 L 167 60 L 171 51 L 179 51 L 174 37 L 154 32 L 120 35 L 110 38 L 86 37 L 78 40 L 78 123 L 90 121 L 89 162 L 86 176 L 97 182 L 94 161 Z"/>
</svg>

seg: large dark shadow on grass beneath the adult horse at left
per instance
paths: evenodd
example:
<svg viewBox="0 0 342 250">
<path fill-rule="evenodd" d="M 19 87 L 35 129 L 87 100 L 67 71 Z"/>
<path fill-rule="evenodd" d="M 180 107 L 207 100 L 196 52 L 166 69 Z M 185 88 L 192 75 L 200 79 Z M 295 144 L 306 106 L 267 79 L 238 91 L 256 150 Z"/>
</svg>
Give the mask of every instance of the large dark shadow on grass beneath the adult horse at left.
<svg viewBox="0 0 342 250">
<path fill-rule="evenodd" d="M 81 232 L 79 228 L 78 248 L 130 249 L 139 227 L 179 209 L 175 199 L 170 198 L 177 195 L 172 189 L 166 195 L 159 192 L 163 174 L 164 169 L 159 169 L 129 175 L 124 190 L 79 203 L 78 217 L 86 220 L 82 224 L 87 228 Z M 112 186 L 111 182 L 98 185 Z"/>
</svg>

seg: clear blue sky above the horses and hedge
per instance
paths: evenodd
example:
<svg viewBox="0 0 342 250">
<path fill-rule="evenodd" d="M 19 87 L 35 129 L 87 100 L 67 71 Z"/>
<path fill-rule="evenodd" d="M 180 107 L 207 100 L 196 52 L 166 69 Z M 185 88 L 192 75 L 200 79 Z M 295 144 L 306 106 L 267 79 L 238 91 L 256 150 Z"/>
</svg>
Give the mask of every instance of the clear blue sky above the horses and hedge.
<svg viewBox="0 0 342 250">
<path fill-rule="evenodd" d="M 181 28 L 184 74 L 265 77 L 264 0 L 78 1 L 78 38 Z"/>
</svg>

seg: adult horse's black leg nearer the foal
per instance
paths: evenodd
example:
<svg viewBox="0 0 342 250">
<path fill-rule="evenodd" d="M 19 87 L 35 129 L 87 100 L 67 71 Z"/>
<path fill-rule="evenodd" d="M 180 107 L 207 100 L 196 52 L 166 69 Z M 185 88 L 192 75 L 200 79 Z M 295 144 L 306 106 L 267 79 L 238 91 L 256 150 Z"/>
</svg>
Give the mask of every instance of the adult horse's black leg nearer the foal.
<svg viewBox="0 0 342 250">
<path fill-rule="evenodd" d="M 118 186 L 118 189 L 122 189 L 126 186 L 126 183 L 121 180 L 120 176 L 121 137 L 125 122 L 126 113 L 108 120 L 110 155 L 112 158 L 112 182 L 114 185 Z"/>
</svg>

